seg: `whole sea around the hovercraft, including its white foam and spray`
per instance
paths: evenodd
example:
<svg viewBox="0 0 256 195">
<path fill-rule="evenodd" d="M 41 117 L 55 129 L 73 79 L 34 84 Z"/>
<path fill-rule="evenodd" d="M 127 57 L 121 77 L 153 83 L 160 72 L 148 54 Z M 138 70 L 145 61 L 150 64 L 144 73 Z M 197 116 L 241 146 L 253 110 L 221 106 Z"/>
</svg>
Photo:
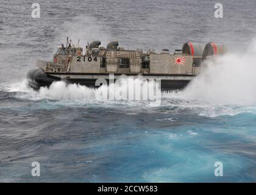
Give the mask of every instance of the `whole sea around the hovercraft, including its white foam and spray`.
<svg viewBox="0 0 256 195">
<path fill-rule="evenodd" d="M 255 182 L 255 2 L 0 1 L 0 182 Z M 69 37 L 80 45 L 171 51 L 188 40 L 227 44 L 185 90 L 152 101 L 107 101 L 26 73 Z M 32 162 L 40 177 L 32 177 Z M 215 162 L 223 176 L 215 176 Z"/>
</svg>

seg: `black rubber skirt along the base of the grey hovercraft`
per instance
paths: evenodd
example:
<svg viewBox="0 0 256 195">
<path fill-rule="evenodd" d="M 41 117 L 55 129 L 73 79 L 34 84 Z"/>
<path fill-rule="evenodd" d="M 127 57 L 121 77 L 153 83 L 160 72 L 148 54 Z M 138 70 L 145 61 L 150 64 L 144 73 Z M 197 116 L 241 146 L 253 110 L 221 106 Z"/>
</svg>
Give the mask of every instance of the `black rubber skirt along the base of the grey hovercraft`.
<svg viewBox="0 0 256 195">
<path fill-rule="evenodd" d="M 114 74 L 115 80 L 123 76 L 123 74 Z M 138 76 L 138 74 L 129 74 L 129 76 Z M 180 90 L 193 79 L 192 75 L 159 75 L 145 74 L 141 75 L 145 79 L 161 79 L 162 90 Z M 93 74 L 93 73 L 44 73 L 42 69 L 32 69 L 27 73 L 29 86 L 38 90 L 40 87 L 49 87 L 53 82 L 63 80 L 67 83 L 76 83 L 87 87 L 95 88 L 97 79 L 105 79 L 109 82 L 109 74 Z"/>
</svg>

